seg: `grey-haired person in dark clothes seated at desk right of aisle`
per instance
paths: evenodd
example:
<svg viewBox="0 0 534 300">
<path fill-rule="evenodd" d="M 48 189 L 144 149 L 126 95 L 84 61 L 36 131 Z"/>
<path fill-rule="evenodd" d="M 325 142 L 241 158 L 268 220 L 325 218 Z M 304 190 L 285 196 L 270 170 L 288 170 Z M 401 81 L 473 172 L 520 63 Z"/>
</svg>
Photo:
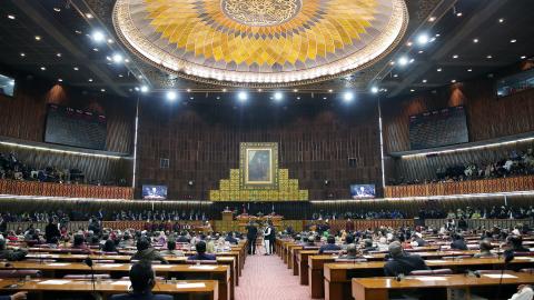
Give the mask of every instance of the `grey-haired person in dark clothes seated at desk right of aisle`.
<svg viewBox="0 0 534 300">
<path fill-rule="evenodd" d="M 419 256 L 408 256 L 405 253 L 398 241 L 392 242 L 388 250 L 392 260 L 384 264 L 385 276 L 396 277 L 398 274 L 409 274 L 415 270 L 429 270 Z"/>
</svg>

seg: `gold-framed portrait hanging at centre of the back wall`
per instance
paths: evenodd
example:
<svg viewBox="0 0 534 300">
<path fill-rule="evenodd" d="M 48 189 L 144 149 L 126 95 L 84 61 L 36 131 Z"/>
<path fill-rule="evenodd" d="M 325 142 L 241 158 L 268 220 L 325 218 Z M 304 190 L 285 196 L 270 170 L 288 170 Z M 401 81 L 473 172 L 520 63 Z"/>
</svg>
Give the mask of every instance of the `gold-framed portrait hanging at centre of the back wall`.
<svg viewBox="0 0 534 300">
<path fill-rule="evenodd" d="M 241 142 L 239 168 L 241 189 L 278 188 L 278 143 Z"/>
</svg>

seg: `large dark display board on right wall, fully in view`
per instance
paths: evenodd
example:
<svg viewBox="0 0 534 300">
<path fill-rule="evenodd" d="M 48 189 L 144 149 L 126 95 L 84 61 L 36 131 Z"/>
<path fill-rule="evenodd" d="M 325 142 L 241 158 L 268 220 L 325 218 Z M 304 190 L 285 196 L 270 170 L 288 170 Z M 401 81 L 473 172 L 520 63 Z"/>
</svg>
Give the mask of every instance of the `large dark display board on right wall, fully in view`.
<svg viewBox="0 0 534 300">
<path fill-rule="evenodd" d="M 412 150 L 469 141 L 464 107 L 446 108 L 409 117 Z"/>
</svg>

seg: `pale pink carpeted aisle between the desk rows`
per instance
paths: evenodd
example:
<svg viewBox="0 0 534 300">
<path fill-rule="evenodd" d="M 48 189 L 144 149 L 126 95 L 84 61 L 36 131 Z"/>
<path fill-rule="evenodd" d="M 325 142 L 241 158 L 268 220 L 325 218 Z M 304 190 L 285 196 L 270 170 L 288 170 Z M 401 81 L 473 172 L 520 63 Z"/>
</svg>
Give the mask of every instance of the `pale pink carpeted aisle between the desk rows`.
<svg viewBox="0 0 534 300">
<path fill-rule="evenodd" d="M 248 256 L 236 300 L 307 300 L 309 287 L 300 286 L 298 276 L 277 256 Z"/>
</svg>

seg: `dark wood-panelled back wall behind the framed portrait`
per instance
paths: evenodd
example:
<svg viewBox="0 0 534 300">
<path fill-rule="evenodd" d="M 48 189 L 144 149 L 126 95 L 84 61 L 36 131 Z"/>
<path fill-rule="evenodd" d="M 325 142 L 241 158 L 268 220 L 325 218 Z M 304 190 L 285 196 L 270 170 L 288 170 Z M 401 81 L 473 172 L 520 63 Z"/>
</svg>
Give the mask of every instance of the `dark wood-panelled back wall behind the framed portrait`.
<svg viewBox="0 0 534 300">
<path fill-rule="evenodd" d="M 208 199 L 208 191 L 239 167 L 240 142 L 278 142 L 279 167 L 289 169 L 310 199 L 348 198 L 350 183 L 380 186 L 376 106 L 318 102 L 236 108 L 228 102 L 168 107 L 144 101 L 138 186 L 167 184 L 171 199 Z M 169 169 L 159 169 L 160 158 L 170 159 Z M 348 158 L 356 159 L 355 167 Z"/>
</svg>

